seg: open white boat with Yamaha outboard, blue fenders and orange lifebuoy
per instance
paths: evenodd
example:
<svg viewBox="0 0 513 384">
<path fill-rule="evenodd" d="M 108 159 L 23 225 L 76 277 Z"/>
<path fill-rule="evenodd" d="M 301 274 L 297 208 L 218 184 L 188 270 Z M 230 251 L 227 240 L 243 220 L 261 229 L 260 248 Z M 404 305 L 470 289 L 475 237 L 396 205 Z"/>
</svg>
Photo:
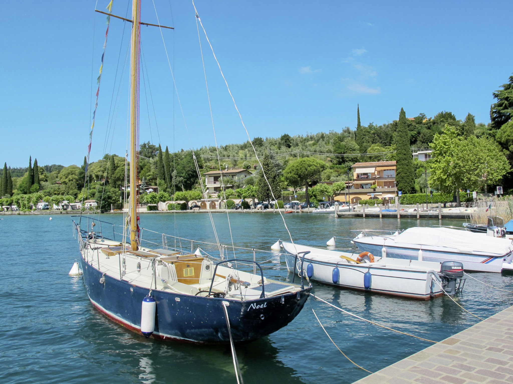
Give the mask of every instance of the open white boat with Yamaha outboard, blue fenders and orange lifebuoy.
<svg viewBox="0 0 513 384">
<path fill-rule="evenodd" d="M 355 254 L 280 243 L 290 272 L 301 275 L 303 271 L 304 278 L 338 287 L 429 300 L 443 294 L 441 287 L 456 293 L 463 277 L 461 263 L 446 262 L 441 270 L 441 263 L 389 258 L 381 252 L 376 257 L 368 252 Z"/>
</svg>

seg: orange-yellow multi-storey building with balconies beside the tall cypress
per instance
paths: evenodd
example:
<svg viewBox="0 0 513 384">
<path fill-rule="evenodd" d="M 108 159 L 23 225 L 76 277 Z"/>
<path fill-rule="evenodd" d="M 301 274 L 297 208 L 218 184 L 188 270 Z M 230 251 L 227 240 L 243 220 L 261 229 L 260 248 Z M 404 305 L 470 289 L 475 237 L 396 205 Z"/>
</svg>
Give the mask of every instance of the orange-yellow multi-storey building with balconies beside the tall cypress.
<svg viewBox="0 0 513 384">
<path fill-rule="evenodd" d="M 353 181 L 335 200 L 357 204 L 365 199 L 393 199 L 396 190 L 396 162 L 372 161 L 352 165 Z"/>
</svg>

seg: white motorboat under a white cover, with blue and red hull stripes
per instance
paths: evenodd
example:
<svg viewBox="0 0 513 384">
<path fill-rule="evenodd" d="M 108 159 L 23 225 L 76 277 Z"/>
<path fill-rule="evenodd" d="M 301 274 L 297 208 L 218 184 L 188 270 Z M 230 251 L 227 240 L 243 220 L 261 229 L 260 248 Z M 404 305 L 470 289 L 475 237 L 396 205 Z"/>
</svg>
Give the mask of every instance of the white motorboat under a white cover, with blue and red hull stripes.
<svg viewBox="0 0 513 384">
<path fill-rule="evenodd" d="M 497 232 L 497 230 L 495 230 Z M 493 230 L 492 230 L 493 232 Z M 452 228 L 413 227 L 403 232 L 363 230 L 352 240 L 362 251 L 398 259 L 463 263 L 465 270 L 513 269 L 511 240 Z"/>
</svg>

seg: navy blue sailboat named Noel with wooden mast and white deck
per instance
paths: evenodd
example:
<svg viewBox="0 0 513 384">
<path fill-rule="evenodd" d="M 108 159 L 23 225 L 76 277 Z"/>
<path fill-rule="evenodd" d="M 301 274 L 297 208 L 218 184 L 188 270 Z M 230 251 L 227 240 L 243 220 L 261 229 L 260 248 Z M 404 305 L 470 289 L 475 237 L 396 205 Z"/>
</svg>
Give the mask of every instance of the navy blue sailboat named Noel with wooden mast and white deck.
<svg viewBox="0 0 513 384">
<path fill-rule="evenodd" d="M 142 245 L 135 166 L 139 142 L 140 26 L 151 24 L 140 20 L 140 0 L 133 0 L 131 20 L 111 14 L 110 8 L 108 11 L 101 13 L 107 14 L 109 20 L 113 16 L 132 23 L 131 193 L 121 241 L 115 239 L 115 226 L 111 223 L 85 216 L 73 218 L 89 300 L 112 321 L 146 337 L 193 343 L 239 343 L 279 330 L 299 314 L 311 286 L 268 279 L 253 260 L 214 261 L 168 247 L 164 242 L 162 247 Z M 237 262 L 254 264 L 260 273 L 233 268 L 231 263 Z"/>
</svg>

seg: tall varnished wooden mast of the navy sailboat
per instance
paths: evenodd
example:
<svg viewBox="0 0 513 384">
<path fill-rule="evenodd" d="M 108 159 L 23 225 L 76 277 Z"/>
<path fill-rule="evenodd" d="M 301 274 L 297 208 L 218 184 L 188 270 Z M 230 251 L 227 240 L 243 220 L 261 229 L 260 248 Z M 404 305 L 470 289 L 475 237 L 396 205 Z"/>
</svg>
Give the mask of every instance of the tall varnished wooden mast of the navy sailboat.
<svg viewBox="0 0 513 384">
<path fill-rule="evenodd" d="M 141 4 L 132 0 L 132 38 L 130 60 L 130 244 L 137 250 L 137 135 L 139 135 L 139 69 L 141 52 Z"/>
</svg>

